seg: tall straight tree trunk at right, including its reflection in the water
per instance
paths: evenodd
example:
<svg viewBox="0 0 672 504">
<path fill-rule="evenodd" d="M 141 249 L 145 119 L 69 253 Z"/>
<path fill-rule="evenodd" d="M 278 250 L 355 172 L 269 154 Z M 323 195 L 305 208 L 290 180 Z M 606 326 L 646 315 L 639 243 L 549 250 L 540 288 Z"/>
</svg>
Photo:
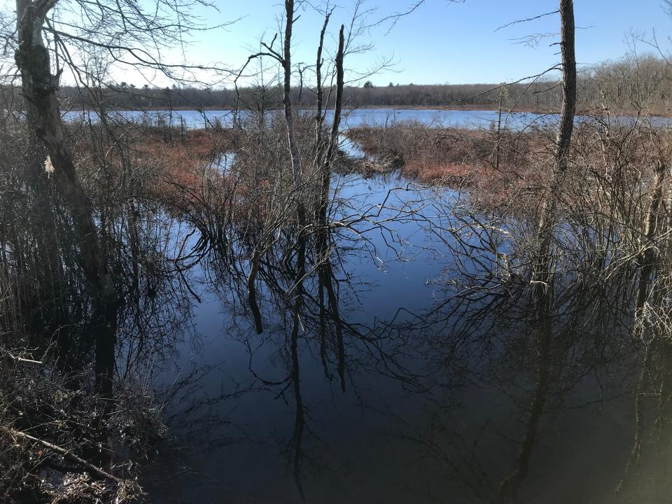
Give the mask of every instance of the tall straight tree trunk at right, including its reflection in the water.
<svg viewBox="0 0 672 504">
<path fill-rule="evenodd" d="M 561 198 L 561 182 L 568 167 L 574 116 L 576 112 L 576 57 L 574 48 L 574 3 L 560 0 L 561 50 L 562 50 L 562 96 L 563 105 L 557 135 L 554 173 L 547 194 L 537 232 L 537 250 L 533 258 L 533 300 L 535 323 L 538 325 L 537 383 L 525 436 L 518 455 L 517 467 L 500 486 L 500 498 L 514 501 L 529 467 L 529 459 L 535 444 L 539 420 L 547 400 L 550 384 L 551 342 L 553 335 L 553 229 L 557 221 L 558 202 Z"/>
</svg>

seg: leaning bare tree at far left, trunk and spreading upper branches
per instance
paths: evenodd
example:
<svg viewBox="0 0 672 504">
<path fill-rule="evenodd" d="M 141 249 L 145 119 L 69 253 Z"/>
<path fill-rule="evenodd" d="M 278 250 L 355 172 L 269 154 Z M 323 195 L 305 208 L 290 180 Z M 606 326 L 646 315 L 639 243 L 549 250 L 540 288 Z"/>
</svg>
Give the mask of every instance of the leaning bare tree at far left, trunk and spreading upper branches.
<svg viewBox="0 0 672 504">
<path fill-rule="evenodd" d="M 56 9 L 57 6 L 60 7 Z M 53 167 L 59 196 L 66 207 L 81 269 L 92 304 L 90 335 L 96 346 L 96 374 L 99 388 L 111 391 L 118 293 L 112 281 L 103 241 L 94 221 L 91 202 L 82 188 L 69 151 L 66 133 L 56 99 L 63 66 L 84 87 L 88 81 L 101 83 L 102 76 L 91 73 L 85 57 L 100 50 L 114 62 L 138 69 L 160 71 L 174 76 L 211 67 L 165 64 L 160 48 L 179 45 L 191 29 L 202 28 L 193 22 L 190 9 L 205 5 L 203 0 L 154 0 L 144 10 L 133 0 L 16 0 L 16 36 L 3 33 L 8 41 L 16 38 L 15 63 L 22 80 L 27 123 L 44 145 L 43 162 Z M 73 22 L 86 20 L 86 22 Z M 52 70 L 50 53 L 56 55 Z"/>
</svg>

